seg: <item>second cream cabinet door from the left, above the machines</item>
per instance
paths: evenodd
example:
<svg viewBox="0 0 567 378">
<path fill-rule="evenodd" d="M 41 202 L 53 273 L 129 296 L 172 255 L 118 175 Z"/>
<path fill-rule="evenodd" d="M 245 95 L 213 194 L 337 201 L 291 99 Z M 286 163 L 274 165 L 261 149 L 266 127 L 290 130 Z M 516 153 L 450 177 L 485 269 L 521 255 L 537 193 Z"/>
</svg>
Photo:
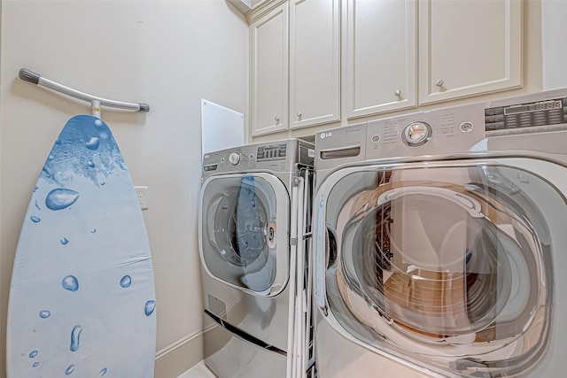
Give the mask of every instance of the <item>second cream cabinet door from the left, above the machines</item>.
<svg viewBox="0 0 567 378">
<path fill-rule="evenodd" d="M 290 123 L 340 120 L 339 0 L 290 3 Z"/>
</svg>

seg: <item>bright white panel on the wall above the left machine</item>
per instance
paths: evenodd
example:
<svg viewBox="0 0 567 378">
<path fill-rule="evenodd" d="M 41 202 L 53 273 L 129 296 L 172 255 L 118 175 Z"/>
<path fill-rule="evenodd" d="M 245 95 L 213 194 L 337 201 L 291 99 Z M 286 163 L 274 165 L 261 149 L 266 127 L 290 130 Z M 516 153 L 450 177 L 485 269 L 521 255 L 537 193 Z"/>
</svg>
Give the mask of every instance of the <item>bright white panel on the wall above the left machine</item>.
<svg viewBox="0 0 567 378">
<path fill-rule="evenodd" d="M 245 116 L 201 98 L 201 157 L 245 144 Z"/>
</svg>

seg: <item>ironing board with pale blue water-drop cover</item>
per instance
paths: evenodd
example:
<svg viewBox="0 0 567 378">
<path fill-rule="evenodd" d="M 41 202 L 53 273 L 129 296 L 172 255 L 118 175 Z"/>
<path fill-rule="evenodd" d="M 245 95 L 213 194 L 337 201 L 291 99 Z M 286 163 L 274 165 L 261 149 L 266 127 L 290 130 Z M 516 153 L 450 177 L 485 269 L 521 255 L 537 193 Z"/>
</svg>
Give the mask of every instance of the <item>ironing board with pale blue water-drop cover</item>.
<svg viewBox="0 0 567 378">
<path fill-rule="evenodd" d="M 30 191 L 8 305 L 8 378 L 152 378 L 150 244 L 105 122 L 68 120 Z"/>
</svg>

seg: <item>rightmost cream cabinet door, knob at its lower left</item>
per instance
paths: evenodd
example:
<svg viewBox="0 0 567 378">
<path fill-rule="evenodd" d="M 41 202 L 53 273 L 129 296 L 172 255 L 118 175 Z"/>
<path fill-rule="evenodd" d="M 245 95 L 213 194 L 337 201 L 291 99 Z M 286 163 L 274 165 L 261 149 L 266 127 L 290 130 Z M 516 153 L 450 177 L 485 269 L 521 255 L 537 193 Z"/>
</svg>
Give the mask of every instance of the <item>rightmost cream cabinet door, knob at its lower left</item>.
<svg viewBox="0 0 567 378">
<path fill-rule="evenodd" d="M 522 85 L 522 2 L 419 2 L 419 102 Z"/>
</svg>

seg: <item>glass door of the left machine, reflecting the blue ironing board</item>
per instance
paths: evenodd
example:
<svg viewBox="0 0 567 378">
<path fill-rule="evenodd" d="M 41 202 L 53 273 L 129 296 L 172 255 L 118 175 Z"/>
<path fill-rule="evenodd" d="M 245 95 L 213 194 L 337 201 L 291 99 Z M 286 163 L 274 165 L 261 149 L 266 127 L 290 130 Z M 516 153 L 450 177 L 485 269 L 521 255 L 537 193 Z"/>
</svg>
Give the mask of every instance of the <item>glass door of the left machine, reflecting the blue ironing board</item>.
<svg viewBox="0 0 567 378">
<path fill-rule="evenodd" d="M 226 174 L 201 189 L 201 260 L 206 272 L 263 296 L 288 277 L 290 199 L 273 174 Z"/>
</svg>

